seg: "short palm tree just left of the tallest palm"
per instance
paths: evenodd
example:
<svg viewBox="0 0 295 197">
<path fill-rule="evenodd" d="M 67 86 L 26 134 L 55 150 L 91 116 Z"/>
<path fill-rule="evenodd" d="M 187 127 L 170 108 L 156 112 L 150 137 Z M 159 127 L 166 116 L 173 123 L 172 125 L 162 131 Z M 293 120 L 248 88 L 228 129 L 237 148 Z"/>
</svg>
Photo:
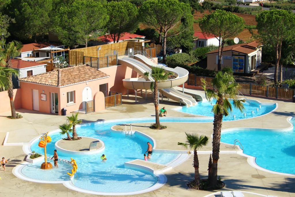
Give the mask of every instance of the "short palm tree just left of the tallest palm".
<svg viewBox="0 0 295 197">
<path fill-rule="evenodd" d="M 199 184 L 200 182 L 200 175 L 199 175 L 199 158 L 197 150 L 206 146 L 208 144 L 208 137 L 204 135 L 197 135 L 194 133 L 185 133 L 186 134 L 186 142 L 181 143 L 178 142 L 177 144 L 182 146 L 183 148 L 189 148 L 188 154 L 191 154 L 191 149 L 194 150 L 194 168 L 195 168 L 195 181 Z"/>
</svg>

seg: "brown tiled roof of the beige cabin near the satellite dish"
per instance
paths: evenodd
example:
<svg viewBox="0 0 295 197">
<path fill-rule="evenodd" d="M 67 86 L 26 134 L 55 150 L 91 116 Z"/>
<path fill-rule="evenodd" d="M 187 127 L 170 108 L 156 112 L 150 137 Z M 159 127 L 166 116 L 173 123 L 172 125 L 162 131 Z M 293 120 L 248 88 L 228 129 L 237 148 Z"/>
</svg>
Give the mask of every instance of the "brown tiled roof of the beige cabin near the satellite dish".
<svg viewBox="0 0 295 197">
<path fill-rule="evenodd" d="M 258 45 L 259 45 L 258 42 L 253 41 L 251 43 L 242 43 L 242 44 L 225 46 L 225 47 L 223 47 L 223 51 L 235 51 L 238 53 L 249 54 L 249 53 L 256 51 L 256 48 L 258 47 Z M 212 54 L 212 53 L 218 53 L 218 49 L 216 49 L 214 51 L 210 51 L 206 54 L 208 55 L 208 54 Z"/>
</svg>

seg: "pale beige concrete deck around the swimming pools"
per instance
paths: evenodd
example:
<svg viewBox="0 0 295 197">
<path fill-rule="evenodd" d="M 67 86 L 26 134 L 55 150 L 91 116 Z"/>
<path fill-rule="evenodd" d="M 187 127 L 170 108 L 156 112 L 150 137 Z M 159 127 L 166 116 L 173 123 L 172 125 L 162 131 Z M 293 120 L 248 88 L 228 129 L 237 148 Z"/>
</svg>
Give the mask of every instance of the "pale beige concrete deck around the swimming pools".
<svg viewBox="0 0 295 197">
<path fill-rule="evenodd" d="M 222 129 L 232 127 L 259 127 L 259 128 L 287 128 L 290 123 L 287 118 L 295 116 L 295 103 L 281 100 L 268 100 L 263 98 L 247 97 L 260 102 L 277 102 L 278 108 L 267 115 L 239 120 L 224 122 Z M 84 123 L 91 121 L 110 120 L 119 118 L 138 118 L 150 117 L 155 115 L 155 108 L 148 95 L 148 101 L 145 100 L 145 94 L 137 94 L 138 103 L 135 104 L 134 95 L 123 96 L 123 105 L 108 108 L 98 113 L 79 114 L 79 118 Z M 168 110 L 168 116 L 173 117 L 197 117 L 171 110 L 179 106 L 179 103 L 160 101 L 160 107 L 165 106 Z M 6 132 L 9 132 L 7 143 L 29 142 L 41 133 L 52 131 L 58 128 L 58 125 L 65 123 L 65 116 L 42 114 L 30 110 L 17 110 L 24 118 L 11 120 L 6 118 L 10 112 L 0 114 L 0 139 L 3 141 Z M 115 117 L 115 118 L 114 118 Z M 212 123 L 165 123 L 168 126 L 165 130 L 149 129 L 148 123 L 134 123 L 132 130 L 138 130 L 153 137 L 157 142 L 157 149 L 183 150 L 177 145 L 177 142 L 185 141 L 184 132 L 196 132 L 211 136 Z M 122 126 L 115 126 L 114 129 L 122 129 Z M 77 131 L 78 132 L 78 131 Z M 201 150 L 211 150 L 211 138 L 208 146 Z M 88 144 L 89 145 L 89 144 Z M 234 150 L 232 146 L 221 145 L 221 150 Z M 12 174 L 12 168 L 23 162 L 24 154 L 22 146 L 0 146 L 1 157 L 8 159 L 6 171 L 0 167 L 0 187 L 1 196 L 96 196 L 86 193 L 72 191 L 62 184 L 43 184 L 33 183 L 21 180 Z M 201 178 L 206 178 L 209 154 L 199 154 Z M 193 157 L 189 157 L 182 164 L 166 171 L 167 183 L 148 193 L 134 196 L 205 196 L 215 191 L 196 191 L 186 187 L 186 182 L 194 177 L 194 168 L 192 167 Z M 277 175 L 264 172 L 251 167 L 247 162 L 247 157 L 236 153 L 220 154 L 218 163 L 218 175 L 225 183 L 223 190 L 242 190 L 274 196 L 295 196 L 295 177 Z M 50 195 L 52 194 L 52 195 Z M 245 195 L 246 196 L 246 195 Z M 251 196 L 250 194 L 247 196 Z"/>
</svg>

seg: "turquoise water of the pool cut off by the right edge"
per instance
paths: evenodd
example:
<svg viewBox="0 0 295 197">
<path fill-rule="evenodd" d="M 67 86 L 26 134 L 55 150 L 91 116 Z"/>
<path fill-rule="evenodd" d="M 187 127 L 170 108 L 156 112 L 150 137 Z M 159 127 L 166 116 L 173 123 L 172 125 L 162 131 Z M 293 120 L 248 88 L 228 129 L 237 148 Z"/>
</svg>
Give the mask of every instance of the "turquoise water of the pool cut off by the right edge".
<svg viewBox="0 0 295 197">
<path fill-rule="evenodd" d="M 291 119 L 295 125 L 295 118 Z M 291 131 L 269 129 L 233 130 L 221 134 L 221 141 L 233 144 L 238 139 L 244 153 L 256 157 L 257 165 L 273 170 L 295 174 L 295 128 Z"/>
</svg>

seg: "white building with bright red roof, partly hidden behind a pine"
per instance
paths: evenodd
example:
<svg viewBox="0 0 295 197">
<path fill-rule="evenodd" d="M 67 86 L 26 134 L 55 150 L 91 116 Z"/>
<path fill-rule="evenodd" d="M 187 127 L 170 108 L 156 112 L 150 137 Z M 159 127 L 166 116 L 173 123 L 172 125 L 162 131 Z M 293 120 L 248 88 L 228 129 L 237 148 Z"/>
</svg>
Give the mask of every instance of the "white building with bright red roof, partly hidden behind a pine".
<svg viewBox="0 0 295 197">
<path fill-rule="evenodd" d="M 219 41 L 213 34 L 207 34 L 204 32 L 194 32 L 194 48 L 196 49 L 197 47 L 204 47 L 208 45 L 214 45 L 218 46 Z"/>
</svg>

